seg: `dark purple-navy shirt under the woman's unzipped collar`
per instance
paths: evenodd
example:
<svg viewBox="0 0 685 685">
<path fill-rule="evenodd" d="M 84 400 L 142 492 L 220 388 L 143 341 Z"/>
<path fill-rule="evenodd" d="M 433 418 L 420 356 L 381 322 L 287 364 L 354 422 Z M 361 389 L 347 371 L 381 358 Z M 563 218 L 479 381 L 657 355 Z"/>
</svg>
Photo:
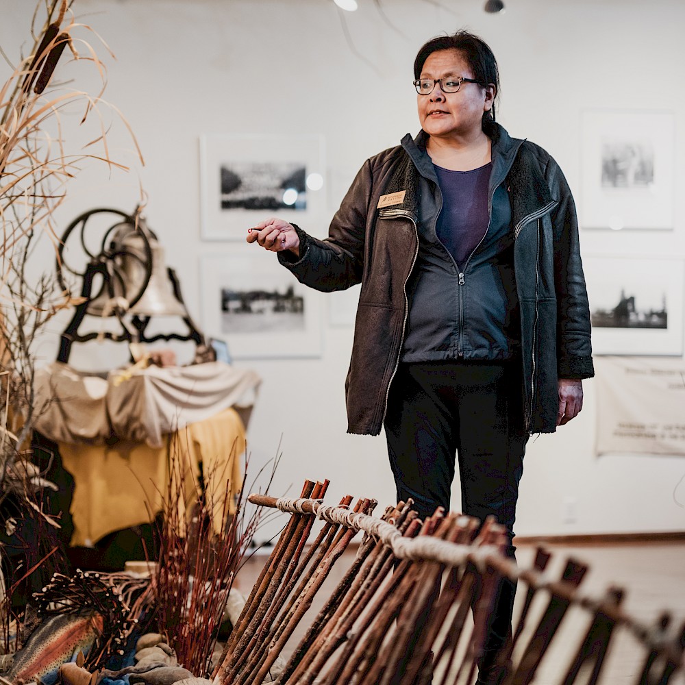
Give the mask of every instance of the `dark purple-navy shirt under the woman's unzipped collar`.
<svg viewBox="0 0 685 685">
<path fill-rule="evenodd" d="M 443 209 L 435 232 L 460 271 L 488 230 L 488 184 L 493 163 L 472 171 L 450 171 L 437 164 L 435 173 L 443 194 Z"/>
</svg>

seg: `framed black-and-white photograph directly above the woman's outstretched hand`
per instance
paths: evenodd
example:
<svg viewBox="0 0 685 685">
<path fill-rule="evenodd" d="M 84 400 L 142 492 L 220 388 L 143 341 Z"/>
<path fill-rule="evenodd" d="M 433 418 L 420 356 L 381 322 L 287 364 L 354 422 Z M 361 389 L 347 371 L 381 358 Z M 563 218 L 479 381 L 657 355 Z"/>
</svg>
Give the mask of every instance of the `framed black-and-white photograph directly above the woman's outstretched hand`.
<svg viewBox="0 0 685 685">
<path fill-rule="evenodd" d="M 201 136 L 201 238 L 245 240 L 269 216 L 316 233 L 324 178 L 322 136 Z"/>
</svg>

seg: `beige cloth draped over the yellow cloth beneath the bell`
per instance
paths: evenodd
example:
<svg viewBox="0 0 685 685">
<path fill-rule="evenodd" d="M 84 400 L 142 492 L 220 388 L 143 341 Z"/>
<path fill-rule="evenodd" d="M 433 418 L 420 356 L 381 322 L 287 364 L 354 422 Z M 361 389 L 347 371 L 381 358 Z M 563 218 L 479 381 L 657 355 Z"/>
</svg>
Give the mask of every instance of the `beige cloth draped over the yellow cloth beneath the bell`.
<svg viewBox="0 0 685 685">
<path fill-rule="evenodd" d="M 36 372 L 36 429 L 58 443 L 105 438 L 161 447 L 162 436 L 232 407 L 247 425 L 261 379 L 223 362 L 148 366 L 99 377 L 54 362 Z"/>
</svg>

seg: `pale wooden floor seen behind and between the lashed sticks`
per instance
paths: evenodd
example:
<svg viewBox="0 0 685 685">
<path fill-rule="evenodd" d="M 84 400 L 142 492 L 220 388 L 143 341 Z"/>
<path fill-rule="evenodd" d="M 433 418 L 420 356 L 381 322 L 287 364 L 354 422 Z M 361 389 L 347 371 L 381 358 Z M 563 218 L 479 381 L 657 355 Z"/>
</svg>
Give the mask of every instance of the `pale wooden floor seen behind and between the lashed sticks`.
<svg viewBox="0 0 685 685">
<path fill-rule="evenodd" d="M 549 571 L 556 574 L 569 557 L 590 566 L 582 587 L 592 595 L 602 593 L 611 585 L 625 590 L 623 608 L 643 621 L 654 621 L 669 610 L 677 623 L 685 620 L 685 542 L 666 543 L 610 543 L 592 545 L 544 545 L 552 553 Z M 535 547 L 519 545 L 516 557 L 519 566 L 531 566 Z M 241 569 L 237 585 L 243 593 L 249 593 L 260 573 L 266 556 L 256 555 Z M 353 559 L 353 551 L 347 551 L 334 567 L 319 597 L 327 597 Z M 518 599 L 521 599 L 519 597 Z M 323 601 L 323 599 L 322 599 Z M 283 656 L 287 658 L 303 634 L 308 621 L 320 607 L 315 604 L 304 617 L 303 623 L 286 645 Z M 516 610 L 515 610 L 516 611 Z M 584 616 L 573 615 L 564 620 L 560 632 L 553 641 L 549 656 L 536 674 L 536 685 L 557 685 L 566 671 L 571 653 L 577 648 L 586 622 Z M 629 685 L 643 660 L 643 653 L 634 639 L 621 632 L 616 635 L 608 660 L 603 668 L 600 682 L 603 685 Z M 672 685 L 685 685 L 685 675 L 671 679 Z"/>
</svg>

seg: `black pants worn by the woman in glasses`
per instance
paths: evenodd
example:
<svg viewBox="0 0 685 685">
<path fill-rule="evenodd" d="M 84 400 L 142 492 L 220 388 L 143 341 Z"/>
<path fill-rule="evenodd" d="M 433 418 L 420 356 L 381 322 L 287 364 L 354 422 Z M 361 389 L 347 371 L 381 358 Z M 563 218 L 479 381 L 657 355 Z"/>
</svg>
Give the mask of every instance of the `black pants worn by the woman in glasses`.
<svg viewBox="0 0 685 685">
<path fill-rule="evenodd" d="M 400 364 L 385 419 L 397 499 L 414 500 L 419 516 L 449 511 L 458 455 L 464 514 L 494 514 L 514 535 L 516 499 L 527 433 L 521 407 L 520 363 Z M 510 542 L 508 554 L 515 547 Z M 485 649 L 499 650 L 510 631 L 515 584 L 503 582 Z"/>
</svg>

